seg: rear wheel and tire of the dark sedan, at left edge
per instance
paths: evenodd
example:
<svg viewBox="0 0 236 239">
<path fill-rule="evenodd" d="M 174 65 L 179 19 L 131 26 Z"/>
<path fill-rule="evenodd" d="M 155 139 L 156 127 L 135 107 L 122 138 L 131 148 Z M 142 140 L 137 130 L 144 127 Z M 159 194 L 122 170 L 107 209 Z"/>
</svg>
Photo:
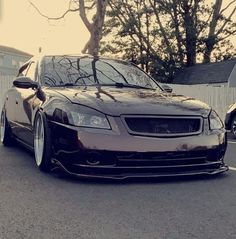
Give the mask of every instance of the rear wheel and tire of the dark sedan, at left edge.
<svg viewBox="0 0 236 239">
<path fill-rule="evenodd" d="M 0 134 L 1 134 L 1 143 L 4 146 L 13 146 L 14 145 L 14 139 L 11 132 L 11 127 L 8 123 L 7 117 L 6 117 L 6 111 L 2 110 L 1 113 L 1 122 L 0 122 Z"/>
</svg>

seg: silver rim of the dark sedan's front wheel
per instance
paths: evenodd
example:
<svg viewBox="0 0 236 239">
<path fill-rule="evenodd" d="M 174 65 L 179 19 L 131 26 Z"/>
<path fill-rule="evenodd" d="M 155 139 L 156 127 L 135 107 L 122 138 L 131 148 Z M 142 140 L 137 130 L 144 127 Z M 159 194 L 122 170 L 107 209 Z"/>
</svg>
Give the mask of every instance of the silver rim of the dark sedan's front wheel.
<svg viewBox="0 0 236 239">
<path fill-rule="evenodd" d="M 43 161 L 44 152 L 44 124 L 43 118 L 40 115 L 35 124 L 34 133 L 34 155 L 37 166 L 40 166 Z"/>
</svg>

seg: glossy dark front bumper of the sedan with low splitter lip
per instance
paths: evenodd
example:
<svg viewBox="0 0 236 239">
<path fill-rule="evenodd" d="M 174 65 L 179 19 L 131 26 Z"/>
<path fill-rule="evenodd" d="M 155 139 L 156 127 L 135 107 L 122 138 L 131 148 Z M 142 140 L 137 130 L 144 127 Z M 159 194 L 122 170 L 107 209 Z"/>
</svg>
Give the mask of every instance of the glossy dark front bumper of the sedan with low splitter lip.
<svg viewBox="0 0 236 239">
<path fill-rule="evenodd" d="M 156 178 L 214 175 L 228 170 L 225 130 L 155 138 L 126 130 L 94 130 L 53 124 L 53 164 L 86 178 Z"/>
</svg>

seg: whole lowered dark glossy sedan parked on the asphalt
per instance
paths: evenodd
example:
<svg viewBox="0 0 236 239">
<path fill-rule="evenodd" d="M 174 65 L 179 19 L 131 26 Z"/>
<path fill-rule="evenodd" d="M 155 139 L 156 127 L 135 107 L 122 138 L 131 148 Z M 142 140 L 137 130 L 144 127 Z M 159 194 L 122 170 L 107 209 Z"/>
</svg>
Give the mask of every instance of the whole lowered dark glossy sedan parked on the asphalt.
<svg viewBox="0 0 236 239">
<path fill-rule="evenodd" d="M 165 91 L 131 63 L 48 55 L 23 65 L 13 85 L 1 142 L 34 151 L 42 171 L 124 179 L 228 170 L 216 112 Z"/>
</svg>

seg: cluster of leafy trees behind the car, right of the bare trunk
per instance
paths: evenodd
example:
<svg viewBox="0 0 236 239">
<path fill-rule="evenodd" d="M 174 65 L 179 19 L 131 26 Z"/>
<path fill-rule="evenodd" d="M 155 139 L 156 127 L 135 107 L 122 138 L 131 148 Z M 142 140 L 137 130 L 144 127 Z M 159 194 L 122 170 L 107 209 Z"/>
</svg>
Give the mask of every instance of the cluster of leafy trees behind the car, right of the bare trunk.
<svg viewBox="0 0 236 239">
<path fill-rule="evenodd" d="M 149 71 L 168 71 L 169 80 L 179 67 L 235 55 L 228 46 L 236 33 L 236 0 L 223 9 L 222 0 L 109 0 L 108 6 L 103 36 L 109 46 L 130 42 L 139 61 L 151 59 Z M 111 36 L 115 40 L 107 40 Z M 127 50 L 118 54 L 126 56 Z"/>
</svg>

